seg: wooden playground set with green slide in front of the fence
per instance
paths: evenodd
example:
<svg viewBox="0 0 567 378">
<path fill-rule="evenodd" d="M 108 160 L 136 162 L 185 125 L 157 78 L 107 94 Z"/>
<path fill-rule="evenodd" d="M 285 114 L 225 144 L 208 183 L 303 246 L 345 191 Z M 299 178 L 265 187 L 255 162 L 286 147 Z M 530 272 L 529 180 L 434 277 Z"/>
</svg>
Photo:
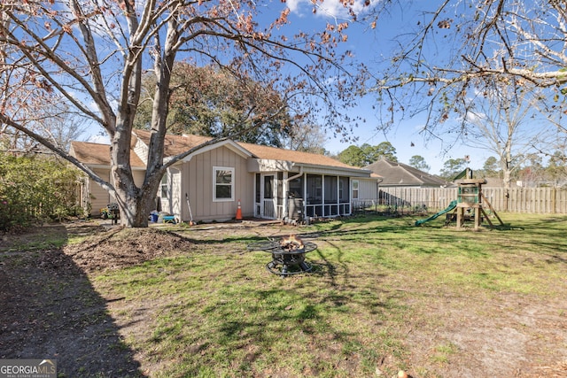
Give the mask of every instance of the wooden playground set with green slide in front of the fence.
<svg viewBox="0 0 567 378">
<path fill-rule="evenodd" d="M 466 179 L 458 180 L 462 177 L 468 177 Z M 456 228 L 463 228 L 465 220 L 474 220 L 475 229 L 480 228 L 480 223 L 482 220 L 486 220 L 491 228 L 494 227 L 493 222 L 490 217 L 485 212 L 485 207 L 488 207 L 496 219 L 500 222 L 501 226 L 504 225 L 498 213 L 493 209 L 492 204 L 486 199 L 482 193 L 482 185 L 486 183 L 485 179 L 473 179 L 472 171 L 467 168 L 462 174 L 458 175 L 454 182 L 458 185 L 457 188 L 457 199 L 451 201 L 446 209 L 437 212 L 431 217 L 425 220 L 417 220 L 416 226 L 420 226 L 425 222 L 430 220 L 435 220 L 443 214 L 447 214 L 447 223 L 456 218 Z M 465 213 L 474 212 L 473 215 L 468 215 Z M 452 213 L 451 213 L 452 212 Z M 456 213 L 456 214 L 455 214 Z M 481 216 L 482 214 L 482 216 Z M 456 215 L 456 216 L 455 216 Z"/>
</svg>

